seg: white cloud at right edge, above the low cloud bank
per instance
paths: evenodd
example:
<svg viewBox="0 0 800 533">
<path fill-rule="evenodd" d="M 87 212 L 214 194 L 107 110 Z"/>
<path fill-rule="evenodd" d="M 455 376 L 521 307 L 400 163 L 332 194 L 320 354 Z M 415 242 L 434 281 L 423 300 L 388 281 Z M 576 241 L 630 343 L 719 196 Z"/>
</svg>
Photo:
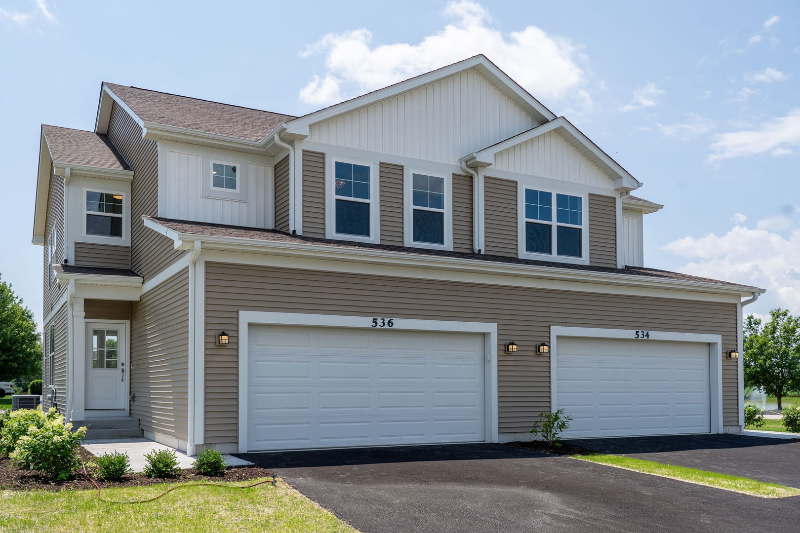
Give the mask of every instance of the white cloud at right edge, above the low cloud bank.
<svg viewBox="0 0 800 533">
<path fill-rule="evenodd" d="M 800 145 L 800 108 L 792 109 L 786 117 L 762 122 L 756 129 L 718 133 L 710 145 L 712 153 L 706 161 L 768 152 L 780 156 L 790 153 L 790 147 L 795 145 Z"/>
</svg>

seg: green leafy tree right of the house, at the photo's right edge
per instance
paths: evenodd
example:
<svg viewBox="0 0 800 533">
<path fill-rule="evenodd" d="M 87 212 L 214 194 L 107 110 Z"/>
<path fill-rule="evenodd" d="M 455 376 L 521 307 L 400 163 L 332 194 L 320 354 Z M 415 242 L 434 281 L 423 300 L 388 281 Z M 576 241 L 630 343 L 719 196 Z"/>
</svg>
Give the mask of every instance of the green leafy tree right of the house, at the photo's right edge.
<svg viewBox="0 0 800 533">
<path fill-rule="evenodd" d="M 744 341 L 745 386 L 761 388 L 783 408 L 786 392 L 800 388 L 800 317 L 786 309 L 770 311 L 770 320 L 747 316 Z"/>
</svg>

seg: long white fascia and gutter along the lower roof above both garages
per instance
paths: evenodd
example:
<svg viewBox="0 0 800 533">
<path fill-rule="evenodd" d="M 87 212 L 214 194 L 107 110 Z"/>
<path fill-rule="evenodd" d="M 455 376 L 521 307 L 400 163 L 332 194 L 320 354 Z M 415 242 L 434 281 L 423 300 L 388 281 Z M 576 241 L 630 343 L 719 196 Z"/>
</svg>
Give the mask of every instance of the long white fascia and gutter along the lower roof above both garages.
<svg viewBox="0 0 800 533">
<path fill-rule="evenodd" d="M 147 224 L 147 223 L 150 224 Z M 146 220 L 148 227 L 159 225 L 158 222 Z M 155 228 L 154 228 L 155 229 Z M 159 233 L 167 235 L 170 231 L 162 226 Z M 754 292 L 765 292 L 762 288 L 744 288 L 732 285 L 707 283 L 703 281 L 665 280 L 647 276 L 630 276 L 611 272 L 595 272 L 574 268 L 545 267 L 539 265 L 518 265 L 514 263 L 495 263 L 474 259 L 456 259 L 452 257 L 426 256 L 414 253 L 384 252 L 382 250 L 369 250 L 347 248 L 345 246 L 322 246 L 305 243 L 289 243 L 278 241 L 263 241 L 241 237 L 216 237 L 197 233 L 171 232 L 174 241 L 194 242 L 202 241 L 203 249 L 219 249 L 233 252 L 270 253 L 274 255 L 304 255 L 334 261 L 373 262 L 384 265 L 400 265 L 409 267 L 437 268 L 458 271 L 482 272 L 484 275 L 498 276 L 531 276 L 552 279 L 569 280 L 587 283 L 617 284 L 626 286 L 639 286 L 649 288 L 663 288 L 665 290 L 686 290 L 711 292 L 714 294 L 751 296 Z"/>
</svg>

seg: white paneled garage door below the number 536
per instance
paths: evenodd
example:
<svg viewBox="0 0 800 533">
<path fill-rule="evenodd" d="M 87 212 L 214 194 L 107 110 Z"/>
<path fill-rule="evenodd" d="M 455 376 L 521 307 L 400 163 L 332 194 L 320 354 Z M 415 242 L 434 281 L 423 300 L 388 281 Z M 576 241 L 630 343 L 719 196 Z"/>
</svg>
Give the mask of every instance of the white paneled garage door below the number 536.
<svg viewBox="0 0 800 533">
<path fill-rule="evenodd" d="M 250 451 L 482 441 L 483 336 L 250 326 Z"/>
</svg>

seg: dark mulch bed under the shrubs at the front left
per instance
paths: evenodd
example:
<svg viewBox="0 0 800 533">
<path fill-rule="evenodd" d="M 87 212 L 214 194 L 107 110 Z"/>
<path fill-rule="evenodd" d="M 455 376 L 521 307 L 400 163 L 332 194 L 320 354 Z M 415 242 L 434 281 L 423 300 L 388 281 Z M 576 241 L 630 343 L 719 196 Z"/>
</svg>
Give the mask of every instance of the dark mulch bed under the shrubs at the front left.
<svg viewBox="0 0 800 533">
<path fill-rule="evenodd" d="M 83 447 L 78 448 L 78 453 L 86 462 L 94 459 L 89 451 Z M 89 479 L 86 479 L 82 473 L 74 473 L 70 479 L 63 481 L 52 481 L 46 477 L 42 477 L 37 472 L 26 470 L 17 466 L 10 466 L 9 459 L 0 459 L 0 489 L 10 489 L 12 491 L 30 491 L 30 490 L 43 490 L 43 491 L 63 491 L 63 490 L 81 490 L 81 489 L 94 489 L 94 485 Z M 272 475 L 272 471 L 266 468 L 256 466 L 245 467 L 230 467 L 222 473 L 222 475 L 200 475 L 194 468 L 182 470 L 180 474 L 168 479 L 162 478 L 149 478 L 139 472 L 130 472 L 122 478 L 121 481 L 102 481 L 95 477 L 95 472 L 91 471 L 88 467 L 89 474 L 97 481 L 101 488 L 112 487 L 139 487 L 144 485 L 155 485 L 158 483 L 188 483 L 198 481 L 246 481 L 248 479 L 266 478 Z"/>
</svg>

